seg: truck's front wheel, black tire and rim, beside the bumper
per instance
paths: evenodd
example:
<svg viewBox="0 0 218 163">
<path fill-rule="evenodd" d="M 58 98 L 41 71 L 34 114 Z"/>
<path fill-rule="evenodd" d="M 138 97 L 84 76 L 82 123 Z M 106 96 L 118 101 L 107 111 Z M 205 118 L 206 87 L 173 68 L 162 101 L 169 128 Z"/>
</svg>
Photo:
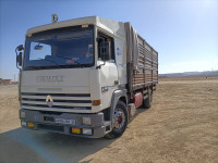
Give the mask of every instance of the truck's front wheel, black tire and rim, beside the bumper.
<svg viewBox="0 0 218 163">
<path fill-rule="evenodd" d="M 129 116 L 126 105 L 123 101 L 118 101 L 113 114 L 113 128 L 109 134 L 106 135 L 106 137 L 112 139 L 122 136 L 128 126 L 128 121 Z"/>
</svg>

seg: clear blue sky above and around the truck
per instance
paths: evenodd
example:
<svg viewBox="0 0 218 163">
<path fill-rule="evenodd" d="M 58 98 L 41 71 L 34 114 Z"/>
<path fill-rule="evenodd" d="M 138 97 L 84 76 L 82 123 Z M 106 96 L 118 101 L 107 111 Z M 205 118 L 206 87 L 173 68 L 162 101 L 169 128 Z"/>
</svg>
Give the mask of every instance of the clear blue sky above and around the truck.
<svg viewBox="0 0 218 163">
<path fill-rule="evenodd" d="M 0 0 L 0 78 L 12 78 L 28 28 L 98 15 L 131 22 L 159 52 L 159 73 L 218 70 L 217 0 Z"/>
</svg>

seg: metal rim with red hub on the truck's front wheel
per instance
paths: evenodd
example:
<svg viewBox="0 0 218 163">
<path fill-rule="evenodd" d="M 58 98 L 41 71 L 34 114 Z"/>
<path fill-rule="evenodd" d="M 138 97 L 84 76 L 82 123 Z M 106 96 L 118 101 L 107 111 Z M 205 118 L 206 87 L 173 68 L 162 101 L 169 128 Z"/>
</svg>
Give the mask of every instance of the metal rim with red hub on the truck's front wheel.
<svg viewBox="0 0 218 163">
<path fill-rule="evenodd" d="M 114 115 L 113 115 L 113 128 L 116 130 L 120 130 L 125 123 L 125 114 L 121 109 L 116 109 L 114 110 Z"/>
</svg>

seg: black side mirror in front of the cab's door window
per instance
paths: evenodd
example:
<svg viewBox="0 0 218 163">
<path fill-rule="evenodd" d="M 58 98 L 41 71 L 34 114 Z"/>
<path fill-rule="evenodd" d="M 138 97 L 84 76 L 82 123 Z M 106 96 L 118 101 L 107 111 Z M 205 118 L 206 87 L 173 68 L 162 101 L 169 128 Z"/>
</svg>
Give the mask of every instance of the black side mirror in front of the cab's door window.
<svg viewBox="0 0 218 163">
<path fill-rule="evenodd" d="M 99 53 L 102 61 L 110 60 L 110 42 L 101 41 L 99 43 Z"/>
</svg>

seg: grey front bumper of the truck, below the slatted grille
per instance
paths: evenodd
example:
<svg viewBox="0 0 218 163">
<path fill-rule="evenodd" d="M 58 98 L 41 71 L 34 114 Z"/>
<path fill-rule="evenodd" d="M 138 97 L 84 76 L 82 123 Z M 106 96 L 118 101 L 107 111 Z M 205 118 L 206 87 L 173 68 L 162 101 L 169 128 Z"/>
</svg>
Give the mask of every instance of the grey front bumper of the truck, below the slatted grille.
<svg viewBox="0 0 218 163">
<path fill-rule="evenodd" d="M 25 113 L 24 113 L 25 112 Z M 22 116 L 22 117 L 21 117 Z M 84 125 L 82 118 L 89 117 L 90 125 Z M 72 124 L 57 123 L 57 118 L 72 120 Z M 110 122 L 104 121 L 104 113 L 95 114 L 77 114 L 77 113 L 58 113 L 58 112 L 44 112 L 34 110 L 20 110 L 20 120 L 22 127 L 29 129 L 47 130 L 60 134 L 66 134 L 78 137 L 100 138 L 110 131 Z M 33 123 L 34 127 L 27 127 L 23 124 Z M 81 134 L 73 134 L 72 128 L 81 128 Z M 84 135 L 83 129 L 92 129 L 90 135 Z"/>
</svg>

